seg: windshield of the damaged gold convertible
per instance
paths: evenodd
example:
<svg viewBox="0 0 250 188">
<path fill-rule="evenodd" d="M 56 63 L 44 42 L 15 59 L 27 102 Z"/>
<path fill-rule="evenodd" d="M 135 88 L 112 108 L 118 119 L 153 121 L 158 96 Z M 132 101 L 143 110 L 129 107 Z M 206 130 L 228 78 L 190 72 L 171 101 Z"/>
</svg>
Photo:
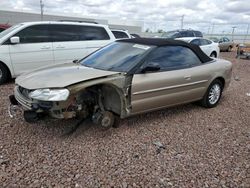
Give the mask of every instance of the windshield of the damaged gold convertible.
<svg viewBox="0 0 250 188">
<path fill-rule="evenodd" d="M 107 71 L 128 72 L 152 46 L 127 42 L 114 42 L 98 50 L 80 63 L 87 67 Z"/>
</svg>

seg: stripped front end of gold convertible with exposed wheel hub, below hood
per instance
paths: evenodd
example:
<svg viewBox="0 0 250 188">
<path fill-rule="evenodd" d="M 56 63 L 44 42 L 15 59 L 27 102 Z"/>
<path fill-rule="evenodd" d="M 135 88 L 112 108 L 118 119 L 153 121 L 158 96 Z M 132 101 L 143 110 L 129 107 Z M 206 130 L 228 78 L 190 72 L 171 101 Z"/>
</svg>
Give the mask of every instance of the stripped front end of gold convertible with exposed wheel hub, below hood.
<svg viewBox="0 0 250 188">
<path fill-rule="evenodd" d="M 16 86 L 10 101 L 23 107 L 28 122 L 47 114 L 58 119 L 91 117 L 94 122 L 109 127 L 114 124 L 115 116 L 124 118 L 130 113 L 131 80 L 131 76 L 118 74 L 63 89 L 29 90 Z"/>
</svg>

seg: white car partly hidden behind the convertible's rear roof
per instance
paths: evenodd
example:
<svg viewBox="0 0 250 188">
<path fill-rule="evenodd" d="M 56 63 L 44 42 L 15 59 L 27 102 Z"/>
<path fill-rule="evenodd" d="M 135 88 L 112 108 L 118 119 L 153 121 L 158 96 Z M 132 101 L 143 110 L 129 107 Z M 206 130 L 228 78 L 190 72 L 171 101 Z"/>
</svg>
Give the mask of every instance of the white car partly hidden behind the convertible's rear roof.
<svg viewBox="0 0 250 188">
<path fill-rule="evenodd" d="M 178 38 L 178 40 L 198 45 L 202 51 L 210 57 L 218 57 L 220 54 L 218 43 L 211 40 L 197 37 Z"/>
</svg>

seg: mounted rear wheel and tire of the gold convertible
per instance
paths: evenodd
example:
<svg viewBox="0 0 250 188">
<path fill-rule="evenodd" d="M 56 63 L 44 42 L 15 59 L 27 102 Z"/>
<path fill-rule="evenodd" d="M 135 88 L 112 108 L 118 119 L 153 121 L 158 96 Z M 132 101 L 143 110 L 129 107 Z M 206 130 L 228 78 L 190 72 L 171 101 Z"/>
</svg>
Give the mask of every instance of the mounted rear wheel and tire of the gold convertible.
<svg viewBox="0 0 250 188">
<path fill-rule="evenodd" d="M 214 80 L 207 89 L 206 94 L 200 101 L 201 105 L 205 108 L 213 108 L 217 106 L 220 101 L 223 91 L 223 84 L 220 80 Z"/>
</svg>

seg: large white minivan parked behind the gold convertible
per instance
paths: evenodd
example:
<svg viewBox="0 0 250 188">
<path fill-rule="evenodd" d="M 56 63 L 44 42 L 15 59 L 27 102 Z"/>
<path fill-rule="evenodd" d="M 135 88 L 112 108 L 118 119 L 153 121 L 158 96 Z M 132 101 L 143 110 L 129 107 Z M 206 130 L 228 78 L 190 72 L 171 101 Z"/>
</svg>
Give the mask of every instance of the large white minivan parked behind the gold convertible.
<svg viewBox="0 0 250 188">
<path fill-rule="evenodd" d="M 0 33 L 0 84 L 45 65 L 80 59 L 115 40 L 108 26 L 27 22 Z"/>
</svg>

